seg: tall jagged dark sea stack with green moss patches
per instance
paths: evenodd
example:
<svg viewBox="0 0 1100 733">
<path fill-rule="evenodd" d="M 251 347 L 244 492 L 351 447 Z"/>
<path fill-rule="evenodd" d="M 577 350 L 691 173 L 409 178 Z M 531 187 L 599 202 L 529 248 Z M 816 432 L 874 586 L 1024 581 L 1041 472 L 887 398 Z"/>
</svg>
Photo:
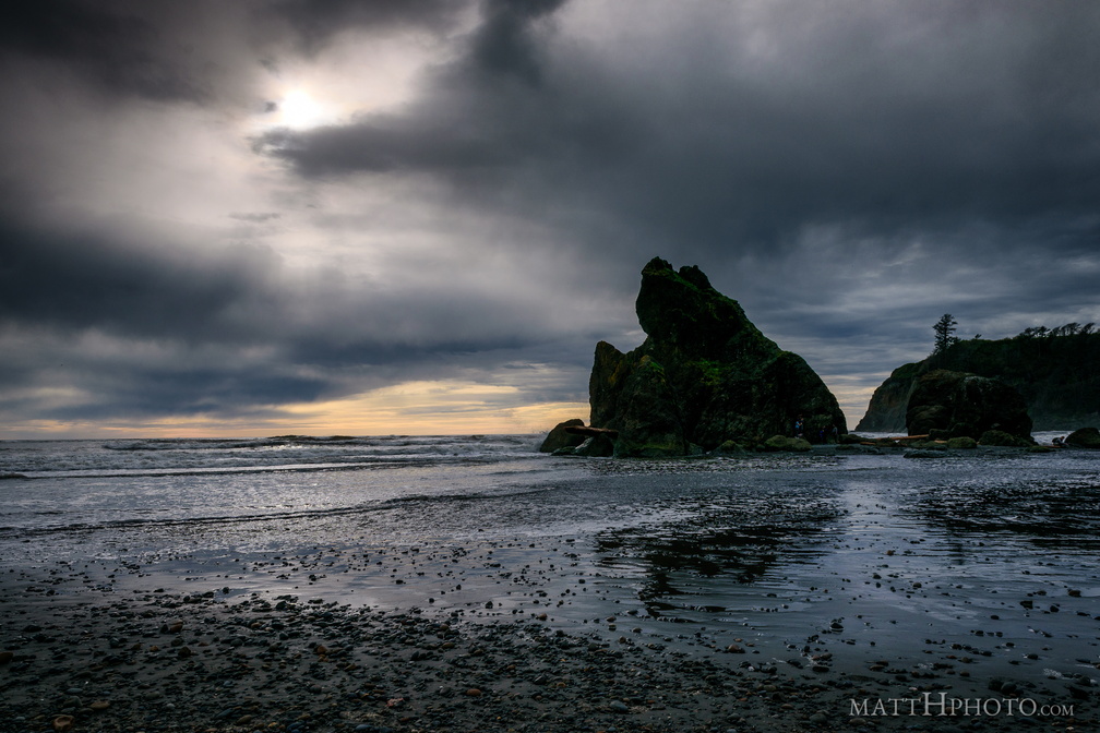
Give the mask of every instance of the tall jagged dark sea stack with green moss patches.
<svg viewBox="0 0 1100 733">
<path fill-rule="evenodd" d="M 646 341 L 628 354 L 596 344 L 588 380 L 591 425 L 617 431 L 614 455 L 755 445 L 792 434 L 800 415 L 811 441 L 834 426 L 847 432 L 836 398 L 805 360 L 760 333 L 698 267 L 678 273 L 653 258 L 636 310 Z"/>
</svg>

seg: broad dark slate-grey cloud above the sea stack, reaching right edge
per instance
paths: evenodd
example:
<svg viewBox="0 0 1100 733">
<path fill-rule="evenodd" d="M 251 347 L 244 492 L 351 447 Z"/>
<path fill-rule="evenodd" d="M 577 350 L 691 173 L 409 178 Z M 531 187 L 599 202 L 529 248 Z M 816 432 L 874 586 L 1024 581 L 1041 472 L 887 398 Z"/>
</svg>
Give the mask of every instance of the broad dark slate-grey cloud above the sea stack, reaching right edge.
<svg viewBox="0 0 1100 733">
<path fill-rule="evenodd" d="M 532 33 L 556 4 L 487 3 L 466 57 L 417 103 L 262 148 L 306 175 L 475 181 L 532 209 L 587 201 L 700 253 L 785 247 L 821 222 L 897 236 L 1064 221 L 1100 195 L 1096 5 L 776 3 L 602 51 Z"/>
</svg>

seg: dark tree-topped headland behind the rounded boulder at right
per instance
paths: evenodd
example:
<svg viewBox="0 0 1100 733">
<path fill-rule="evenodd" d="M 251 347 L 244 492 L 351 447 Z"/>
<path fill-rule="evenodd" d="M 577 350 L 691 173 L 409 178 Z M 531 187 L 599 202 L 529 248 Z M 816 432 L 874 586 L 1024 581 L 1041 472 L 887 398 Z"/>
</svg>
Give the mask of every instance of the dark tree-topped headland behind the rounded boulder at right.
<svg viewBox="0 0 1100 733">
<path fill-rule="evenodd" d="M 1100 423 L 1100 333 L 961 341 L 906 364 L 875 390 L 857 431 L 901 432 L 916 380 L 935 369 L 999 379 L 1024 399 L 1034 430 Z"/>
</svg>

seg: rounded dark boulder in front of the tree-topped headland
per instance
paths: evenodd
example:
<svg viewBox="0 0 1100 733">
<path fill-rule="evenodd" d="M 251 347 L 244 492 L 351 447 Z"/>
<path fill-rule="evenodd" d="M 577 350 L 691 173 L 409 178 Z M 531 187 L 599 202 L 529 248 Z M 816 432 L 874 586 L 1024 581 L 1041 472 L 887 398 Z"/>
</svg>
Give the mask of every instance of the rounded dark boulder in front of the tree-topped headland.
<svg viewBox="0 0 1100 733">
<path fill-rule="evenodd" d="M 910 435 L 974 437 L 1001 431 L 1031 444 L 1023 397 L 998 379 L 937 369 L 916 380 L 905 418 Z"/>
</svg>

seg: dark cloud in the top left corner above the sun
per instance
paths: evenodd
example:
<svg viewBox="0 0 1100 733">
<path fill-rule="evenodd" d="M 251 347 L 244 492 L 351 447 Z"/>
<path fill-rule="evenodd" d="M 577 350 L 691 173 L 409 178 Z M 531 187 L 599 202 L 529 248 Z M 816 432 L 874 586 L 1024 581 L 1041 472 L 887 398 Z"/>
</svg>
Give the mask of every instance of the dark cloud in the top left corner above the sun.
<svg viewBox="0 0 1100 733">
<path fill-rule="evenodd" d="M 316 54 L 354 30 L 442 32 L 461 0 L 35 0 L 0 8 L 0 62 L 29 58 L 111 96 L 209 104 L 286 46 Z"/>
</svg>

